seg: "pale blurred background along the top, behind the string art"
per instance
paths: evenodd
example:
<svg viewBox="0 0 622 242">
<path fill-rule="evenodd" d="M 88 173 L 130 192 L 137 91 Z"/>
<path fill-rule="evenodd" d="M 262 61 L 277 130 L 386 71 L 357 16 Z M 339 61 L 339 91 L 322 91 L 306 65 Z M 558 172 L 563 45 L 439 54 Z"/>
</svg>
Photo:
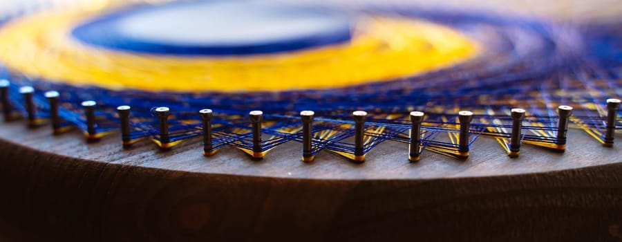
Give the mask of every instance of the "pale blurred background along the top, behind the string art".
<svg viewBox="0 0 622 242">
<path fill-rule="evenodd" d="M 2 0 L 0 1 L 0 15 L 2 17 L 19 15 L 21 12 L 50 7 L 82 7 L 101 8 L 109 4 L 118 3 L 156 3 L 169 0 Z M 261 1 L 261 0 L 260 0 Z M 591 19 L 606 19 L 619 21 L 622 19 L 622 3 L 619 0 L 263 0 L 283 3 L 322 3 L 329 5 L 359 8 L 360 6 L 417 6 L 430 8 L 452 8 L 462 10 L 484 10 L 487 12 L 511 12 L 516 15 L 535 15 L 538 17 L 563 19 L 566 21 Z"/>
</svg>

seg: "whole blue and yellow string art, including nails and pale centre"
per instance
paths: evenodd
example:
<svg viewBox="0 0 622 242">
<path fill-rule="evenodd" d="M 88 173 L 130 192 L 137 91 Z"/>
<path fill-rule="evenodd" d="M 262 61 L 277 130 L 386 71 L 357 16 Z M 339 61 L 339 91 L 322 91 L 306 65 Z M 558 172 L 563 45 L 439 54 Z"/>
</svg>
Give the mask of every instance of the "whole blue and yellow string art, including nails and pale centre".
<svg viewBox="0 0 622 242">
<path fill-rule="evenodd" d="M 100 3 L 99 1 L 97 3 Z M 171 149 L 202 136 L 263 158 L 355 162 L 381 142 L 467 158 L 493 138 L 566 149 L 567 129 L 612 146 L 622 25 L 442 8 L 265 1 L 115 1 L 3 21 L 4 117 L 88 140 Z"/>
</svg>

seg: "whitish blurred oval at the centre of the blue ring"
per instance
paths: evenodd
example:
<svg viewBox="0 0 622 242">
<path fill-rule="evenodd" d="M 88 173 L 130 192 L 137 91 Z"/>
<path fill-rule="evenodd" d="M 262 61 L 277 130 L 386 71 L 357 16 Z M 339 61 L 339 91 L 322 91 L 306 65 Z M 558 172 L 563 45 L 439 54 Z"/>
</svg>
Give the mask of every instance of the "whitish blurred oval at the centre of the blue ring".
<svg viewBox="0 0 622 242">
<path fill-rule="evenodd" d="M 339 32 L 348 17 L 252 1 L 193 1 L 115 21 L 120 34 L 178 46 L 245 46 Z"/>
</svg>

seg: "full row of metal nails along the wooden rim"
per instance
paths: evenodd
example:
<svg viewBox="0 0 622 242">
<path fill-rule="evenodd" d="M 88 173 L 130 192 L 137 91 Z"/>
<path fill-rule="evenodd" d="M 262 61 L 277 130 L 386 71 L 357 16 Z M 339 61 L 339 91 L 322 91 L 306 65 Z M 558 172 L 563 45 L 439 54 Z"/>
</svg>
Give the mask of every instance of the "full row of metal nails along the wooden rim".
<svg viewBox="0 0 622 242">
<path fill-rule="evenodd" d="M 3 104 L 3 113 L 5 118 L 10 119 L 10 100 L 8 98 L 8 82 L 0 81 L 0 98 Z M 26 113 L 28 118 L 28 124 L 31 127 L 35 127 L 37 114 L 35 109 L 35 102 L 32 100 L 34 89 L 30 86 L 22 86 L 19 89 L 26 107 Z M 52 124 L 55 133 L 58 133 L 61 127 L 61 117 L 59 116 L 59 93 L 57 91 L 47 91 L 44 93 L 44 97 L 48 100 L 50 109 L 50 122 Z M 86 134 L 89 140 L 97 140 L 100 138 L 95 129 L 96 126 L 96 102 L 92 100 L 82 102 L 86 118 Z M 614 135 L 616 129 L 617 112 L 620 107 L 620 100 L 609 99 L 607 100 L 607 117 L 605 120 L 605 136 L 603 145 L 606 147 L 612 147 L 614 143 Z M 133 144 L 131 140 L 131 127 L 130 127 L 130 106 L 118 106 L 117 114 L 120 118 L 120 131 L 122 137 L 122 143 L 124 147 L 129 147 Z M 169 108 L 158 107 L 154 109 L 156 116 L 159 120 L 159 142 L 162 149 L 169 149 L 171 147 L 169 142 Z M 216 153 L 212 144 L 212 128 L 211 119 L 212 111 L 210 109 L 202 109 L 199 114 L 202 118 L 202 138 L 203 138 L 203 153 L 205 156 L 211 156 Z M 522 120 L 525 118 L 525 109 L 511 109 L 511 136 L 509 140 L 509 156 L 517 157 L 520 151 L 520 143 L 522 139 L 521 129 Z M 568 129 L 568 122 L 570 115 L 572 114 L 571 106 L 558 106 L 558 125 L 556 133 L 556 145 L 559 150 L 565 150 L 566 145 L 566 133 Z M 366 111 L 354 111 L 352 118 L 354 120 L 354 158 L 357 162 L 362 162 L 365 159 L 364 152 L 364 138 L 366 125 L 365 120 L 368 113 Z M 425 113 L 421 111 L 412 111 L 410 113 L 411 130 L 410 130 L 410 144 L 408 152 L 408 160 L 417 161 L 420 160 L 420 151 L 422 149 L 422 123 L 424 122 Z M 313 111 L 301 111 L 300 113 L 302 123 L 302 146 L 303 157 L 305 162 L 312 161 L 314 159 L 314 153 L 312 153 L 313 147 L 313 133 L 312 123 L 314 120 Z M 263 150 L 261 147 L 261 136 L 263 121 L 262 111 L 249 112 L 249 119 L 252 126 L 252 151 L 253 158 L 263 158 Z M 458 136 L 458 153 L 463 158 L 469 156 L 469 135 L 471 133 L 471 121 L 473 120 L 473 113 L 471 111 L 459 111 L 459 136 Z"/>
</svg>

